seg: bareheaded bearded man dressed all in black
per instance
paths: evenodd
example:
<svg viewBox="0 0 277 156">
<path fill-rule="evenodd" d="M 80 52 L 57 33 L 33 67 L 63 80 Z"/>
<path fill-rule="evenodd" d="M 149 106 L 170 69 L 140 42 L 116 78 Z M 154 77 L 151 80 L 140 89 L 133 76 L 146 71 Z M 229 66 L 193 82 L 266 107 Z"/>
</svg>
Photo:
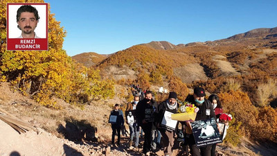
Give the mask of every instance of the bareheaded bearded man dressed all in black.
<svg viewBox="0 0 277 156">
<path fill-rule="evenodd" d="M 145 155 L 150 152 L 151 142 L 154 140 L 152 134 L 156 130 L 154 123 L 154 112 L 156 109 L 157 102 L 152 98 L 151 91 L 146 92 L 145 98 L 136 105 L 136 119 L 144 132 L 143 153 Z"/>
</svg>

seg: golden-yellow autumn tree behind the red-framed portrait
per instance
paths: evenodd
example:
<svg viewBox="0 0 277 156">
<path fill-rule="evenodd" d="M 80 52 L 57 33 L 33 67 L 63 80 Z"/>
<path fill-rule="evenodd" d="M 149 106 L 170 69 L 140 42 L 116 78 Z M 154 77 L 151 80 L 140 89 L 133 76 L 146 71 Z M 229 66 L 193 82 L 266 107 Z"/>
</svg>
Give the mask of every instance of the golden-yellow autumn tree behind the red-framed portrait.
<svg viewBox="0 0 277 156">
<path fill-rule="evenodd" d="M 39 103 L 55 107 L 52 97 L 78 103 L 114 95 L 114 83 L 103 81 L 99 71 L 73 62 L 62 49 L 66 32 L 48 10 L 48 51 L 6 50 L 6 3 L 44 3 L 42 0 L 3 0 L 0 2 L 1 80 L 8 81 L 23 94 Z"/>
</svg>

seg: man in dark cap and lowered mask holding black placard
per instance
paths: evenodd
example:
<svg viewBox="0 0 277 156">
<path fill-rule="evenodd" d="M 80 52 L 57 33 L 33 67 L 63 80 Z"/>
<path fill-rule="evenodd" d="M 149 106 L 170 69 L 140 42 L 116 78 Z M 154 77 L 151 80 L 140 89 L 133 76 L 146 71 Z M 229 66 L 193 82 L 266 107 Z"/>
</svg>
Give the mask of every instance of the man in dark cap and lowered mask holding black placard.
<svg viewBox="0 0 277 156">
<path fill-rule="evenodd" d="M 213 105 L 205 98 L 205 90 L 202 87 L 196 87 L 193 91 L 193 95 L 188 95 L 186 101 L 195 104 L 199 107 L 195 121 L 215 118 L 215 112 L 213 111 Z M 193 137 L 192 127 L 190 122 L 185 121 L 186 125 L 186 139 L 188 146 L 190 147 L 190 153 L 193 156 L 211 156 L 211 145 L 198 148 L 195 144 L 195 138 Z M 188 153 L 187 153 L 188 154 Z"/>
</svg>

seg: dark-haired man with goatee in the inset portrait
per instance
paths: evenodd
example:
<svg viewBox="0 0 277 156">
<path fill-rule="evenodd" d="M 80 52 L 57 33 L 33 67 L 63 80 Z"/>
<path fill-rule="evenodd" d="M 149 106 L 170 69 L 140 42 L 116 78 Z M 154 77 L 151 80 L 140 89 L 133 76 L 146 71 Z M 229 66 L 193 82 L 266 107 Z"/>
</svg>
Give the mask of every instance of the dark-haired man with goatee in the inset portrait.
<svg viewBox="0 0 277 156">
<path fill-rule="evenodd" d="M 39 38 L 35 28 L 39 22 L 37 9 L 30 5 L 21 6 L 17 10 L 17 28 L 21 30 L 19 38 Z"/>
</svg>

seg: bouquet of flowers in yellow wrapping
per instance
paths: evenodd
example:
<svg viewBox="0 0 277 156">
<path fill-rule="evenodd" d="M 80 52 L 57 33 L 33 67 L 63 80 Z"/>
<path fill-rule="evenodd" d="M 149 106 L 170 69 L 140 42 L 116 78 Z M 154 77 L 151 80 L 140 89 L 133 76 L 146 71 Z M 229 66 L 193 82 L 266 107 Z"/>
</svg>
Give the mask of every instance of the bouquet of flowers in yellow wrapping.
<svg viewBox="0 0 277 156">
<path fill-rule="evenodd" d="M 178 101 L 178 103 L 180 104 L 180 106 L 178 107 L 178 113 L 172 114 L 171 119 L 177 121 L 195 120 L 199 108 L 195 107 L 195 105 L 191 103 L 188 103 L 187 101 Z"/>
</svg>

